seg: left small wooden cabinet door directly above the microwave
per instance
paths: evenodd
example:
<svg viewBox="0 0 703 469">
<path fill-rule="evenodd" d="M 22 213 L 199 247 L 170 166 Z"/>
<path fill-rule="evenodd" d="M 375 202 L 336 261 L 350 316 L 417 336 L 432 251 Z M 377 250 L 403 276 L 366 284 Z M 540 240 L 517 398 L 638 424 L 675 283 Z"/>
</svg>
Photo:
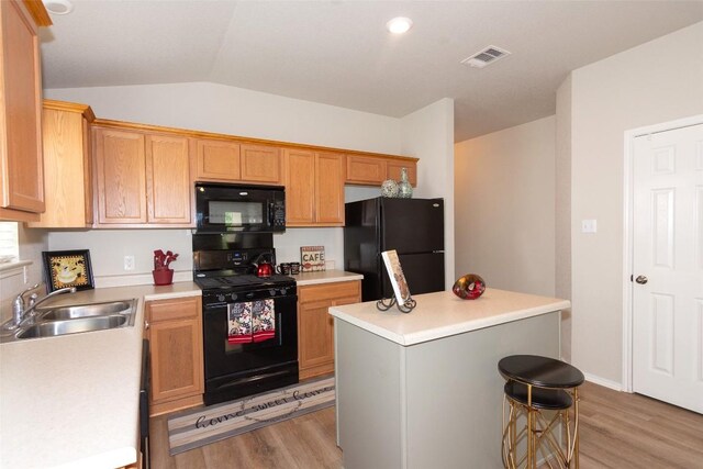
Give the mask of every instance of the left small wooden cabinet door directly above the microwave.
<svg viewBox="0 0 703 469">
<path fill-rule="evenodd" d="M 239 144 L 224 141 L 196 141 L 196 180 L 238 181 Z"/>
</svg>

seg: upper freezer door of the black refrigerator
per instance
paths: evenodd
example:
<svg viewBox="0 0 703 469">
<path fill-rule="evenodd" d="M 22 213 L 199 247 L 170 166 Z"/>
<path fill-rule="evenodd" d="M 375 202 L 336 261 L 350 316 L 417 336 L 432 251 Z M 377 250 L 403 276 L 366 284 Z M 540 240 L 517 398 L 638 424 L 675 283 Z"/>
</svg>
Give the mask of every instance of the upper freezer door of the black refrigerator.
<svg viewBox="0 0 703 469">
<path fill-rule="evenodd" d="M 444 250 L 443 199 L 380 199 L 381 250 Z"/>
</svg>

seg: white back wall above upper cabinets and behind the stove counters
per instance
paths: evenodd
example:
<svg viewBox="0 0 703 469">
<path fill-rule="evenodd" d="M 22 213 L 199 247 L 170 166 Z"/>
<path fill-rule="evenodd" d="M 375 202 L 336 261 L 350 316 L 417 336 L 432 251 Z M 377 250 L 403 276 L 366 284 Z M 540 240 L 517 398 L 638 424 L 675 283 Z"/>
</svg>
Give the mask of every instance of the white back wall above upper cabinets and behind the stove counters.
<svg viewBox="0 0 703 469">
<path fill-rule="evenodd" d="M 222 85 L 48 89 L 45 96 L 89 104 L 101 119 L 401 154 L 402 123 L 398 119 Z M 367 198 L 378 196 L 379 190 L 361 188 L 352 193 Z M 178 252 L 181 258 L 174 267 L 182 270 L 180 278 L 186 276 L 192 269 L 192 250 L 190 237 L 183 233 L 183 230 L 52 232 L 48 244 L 51 249 L 91 248 L 96 283 L 109 286 L 123 281 L 121 277 L 130 273 L 123 270 L 123 256 L 127 254 L 136 260 L 132 273 L 142 275 L 148 282 L 154 248 Z M 279 261 L 298 260 L 302 245 L 325 246 L 326 258 L 335 267 L 343 267 L 342 228 L 289 228 L 275 236 Z"/>
</svg>

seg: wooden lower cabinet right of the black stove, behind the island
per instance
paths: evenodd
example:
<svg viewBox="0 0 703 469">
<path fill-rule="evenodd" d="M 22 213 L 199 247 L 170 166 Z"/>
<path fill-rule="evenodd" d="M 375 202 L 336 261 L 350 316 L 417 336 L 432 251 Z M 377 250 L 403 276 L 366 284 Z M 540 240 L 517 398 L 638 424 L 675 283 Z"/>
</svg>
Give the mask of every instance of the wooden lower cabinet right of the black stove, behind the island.
<svg viewBox="0 0 703 469">
<path fill-rule="evenodd" d="M 300 379 L 334 371 L 334 321 L 330 306 L 359 303 L 359 280 L 298 287 L 298 366 Z"/>
</svg>

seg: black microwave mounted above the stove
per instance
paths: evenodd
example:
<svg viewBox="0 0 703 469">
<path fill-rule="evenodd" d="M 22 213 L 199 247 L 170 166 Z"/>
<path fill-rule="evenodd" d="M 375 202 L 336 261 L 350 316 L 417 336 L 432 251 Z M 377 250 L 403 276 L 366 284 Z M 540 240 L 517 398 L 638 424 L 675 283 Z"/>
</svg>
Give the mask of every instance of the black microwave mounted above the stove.
<svg viewBox="0 0 703 469">
<path fill-rule="evenodd" d="M 286 231 L 286 191 L 281 186 L 196 182 L 198 233 Z"/>
</svg>

